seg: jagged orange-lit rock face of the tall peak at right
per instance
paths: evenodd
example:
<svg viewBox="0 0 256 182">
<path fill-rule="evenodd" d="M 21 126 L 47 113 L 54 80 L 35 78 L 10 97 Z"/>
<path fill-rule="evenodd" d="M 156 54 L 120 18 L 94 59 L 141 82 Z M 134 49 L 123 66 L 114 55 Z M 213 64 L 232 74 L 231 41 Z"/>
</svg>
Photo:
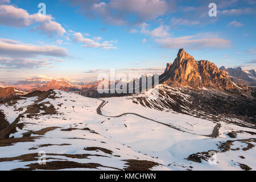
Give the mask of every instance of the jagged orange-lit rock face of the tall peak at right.
<svg viewBox="0 0 256 182">
<path fill-rule="evenodd" d="M 173 64 L 167 64 L 166 72 L 159 82 L 174 86 L 192 88 L 215 88 L 228 92 L 238 92 L 238 87 L 230 81 L 225 70 L 220 70 L 209 61 L 196 61 L 184 49 L 180 49 Z"/>
</svg>

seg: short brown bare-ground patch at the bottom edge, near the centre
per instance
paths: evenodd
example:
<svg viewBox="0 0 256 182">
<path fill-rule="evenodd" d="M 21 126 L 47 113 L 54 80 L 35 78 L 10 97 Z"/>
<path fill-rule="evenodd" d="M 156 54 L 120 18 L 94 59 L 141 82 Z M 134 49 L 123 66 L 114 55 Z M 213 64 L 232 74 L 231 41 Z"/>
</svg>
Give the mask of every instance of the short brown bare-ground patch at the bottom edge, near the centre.
<svg viewBox="0 0 256 182">
<path fill-rule="evenodd" d="M 154 166 L 159 166 L 160 164 L 148 161 L 148 160 L 135 160 L 135 159 L 129 159 L 129 160 L 123 160 L 125 161 L 125 165 L 128 167 L 124 168 L 125 171 L 150 171 L 150 168 Z"/>
</svg>

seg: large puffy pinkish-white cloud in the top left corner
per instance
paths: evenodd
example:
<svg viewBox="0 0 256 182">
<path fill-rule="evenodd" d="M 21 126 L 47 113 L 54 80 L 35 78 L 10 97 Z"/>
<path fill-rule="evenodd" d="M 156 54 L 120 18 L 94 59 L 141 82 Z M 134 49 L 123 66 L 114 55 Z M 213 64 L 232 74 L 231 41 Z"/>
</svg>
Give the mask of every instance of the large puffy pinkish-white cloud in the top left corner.
<svg viewBox="0 0 256 182">
<path fill-rule="evenodd" d="M 48 36 L 66 33 L 61 24 L 53 21 L 51 15 L 29 14 L 26 10 L 12 5 L 0 5 L 0 24 L 11 27 L 29 27 L 38 23 L 32 30 L 40 31 Z"/>
</svg>

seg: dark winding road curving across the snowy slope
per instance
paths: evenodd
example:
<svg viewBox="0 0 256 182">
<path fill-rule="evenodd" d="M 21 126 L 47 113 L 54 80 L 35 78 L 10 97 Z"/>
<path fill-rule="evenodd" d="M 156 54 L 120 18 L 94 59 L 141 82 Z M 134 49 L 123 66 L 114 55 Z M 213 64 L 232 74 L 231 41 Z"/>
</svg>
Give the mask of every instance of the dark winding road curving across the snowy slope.
<svg viewBox="0 0 256 182">
<path fill-rule="evenodd" d="M 147 117 L 144 117 L 143 115 L 136 114 L 136 113 L 123 113 L 123 114 L 115 115 L 115 116 L 104 115 L 104 114 L 102 114 L 102 112 L 101 112 L 101 108 L 102 108 L 104 105 L 108 104 L 108 101 L 101 100 L 100 98 L 98 98 L 98 100 L 100 100 L 100 101 L 102 101 L 102 102 L 101 102 L 101 104 L 97 107 L 97 114 L 102 115 L 102 116 L 104 116 L 104 117 L 119 118 L 119 117 L 122 117 L 123 115 L 127 115 L 127 114 L 137 115 L 138 117 L 141 117 L 141 118 L 144 118 L 144 119 L 147 119 L 147 120 L 150 120 L 150 121 L 159 123 L 160 125 L 164 125 L 164 126 L 171 127 L 172 129 L 175 129 L 175 130 L 178 130 L 178 131 L 182 131 L 182 132 L 189 133 L 189 134 L 192 134 L 192 135 L 200 135 L 200 134 L 190 133 L 189 131 L 181 130 L 181 129 L 179 129 L 178 127 L 176 127 L 176 126 L 174 126 L 174 125 L 170 125 L 170 124 L 162 123 L 162 122 L 159 122 L 159 121 L 155 121 L 154 119 L 147 118 Z M 221 124 L 220 124 L 220 123 L 217 123 L 216 126 L 214 126 L 214 128 L 213 128 L 212 134 L 210 134 L 210 135 L 200 135 L 200 136 L 217 138 L 217 137 L 218 137 L 218 130 L 220 129 L 220 127 L 221 127 Z"/>
</svg>

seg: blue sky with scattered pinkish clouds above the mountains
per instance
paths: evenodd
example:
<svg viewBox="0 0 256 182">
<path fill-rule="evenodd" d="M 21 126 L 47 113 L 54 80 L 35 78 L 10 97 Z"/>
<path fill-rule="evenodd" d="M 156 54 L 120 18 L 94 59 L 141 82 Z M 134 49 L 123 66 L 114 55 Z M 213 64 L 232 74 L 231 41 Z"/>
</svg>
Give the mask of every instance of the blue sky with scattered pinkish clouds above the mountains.
<svg viewBox="0 0 256 182">
<path fill-rule="evenodd" d="M 252 69 L 255 32 L 254 0 L 0 0 L 0 81 L 162 73 L 180 48 L 218 67 Z"/>
</svg>

